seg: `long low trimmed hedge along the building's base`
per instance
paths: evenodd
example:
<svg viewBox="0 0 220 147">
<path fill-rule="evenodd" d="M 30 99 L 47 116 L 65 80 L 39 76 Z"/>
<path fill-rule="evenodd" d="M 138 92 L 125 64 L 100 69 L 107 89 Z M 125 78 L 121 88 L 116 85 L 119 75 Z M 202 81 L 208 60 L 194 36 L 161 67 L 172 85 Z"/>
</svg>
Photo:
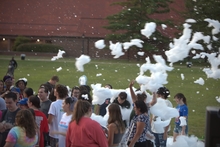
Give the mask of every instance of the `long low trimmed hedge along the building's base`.
<svg viewBox="0 0 220 147">
<path fill-rule="evenodd" d="M 19 52 L 44 52 L 44 53 L 57 53 L 58 50 L 63 50 L 63 47 L 53 44 L 36 44 L 25 43 L 16 48 Z"/>
</svg>

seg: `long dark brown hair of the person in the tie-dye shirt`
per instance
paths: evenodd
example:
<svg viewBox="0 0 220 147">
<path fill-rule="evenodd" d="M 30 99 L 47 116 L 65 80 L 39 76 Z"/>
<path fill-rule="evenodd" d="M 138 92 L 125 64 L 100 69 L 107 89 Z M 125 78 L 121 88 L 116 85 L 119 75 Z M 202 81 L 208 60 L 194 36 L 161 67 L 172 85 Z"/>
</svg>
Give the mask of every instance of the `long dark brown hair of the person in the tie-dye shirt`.
<svg viewBox="0 0 220 147">
<path fill-rule="evenodd" d="M 34 138 L 34 136 L 37 134 L 37 124 L 30 110 L 19 110 L 16 114 L 15 120 L 16 125 L 25 130 L 28 138 Z"/>
</svg>

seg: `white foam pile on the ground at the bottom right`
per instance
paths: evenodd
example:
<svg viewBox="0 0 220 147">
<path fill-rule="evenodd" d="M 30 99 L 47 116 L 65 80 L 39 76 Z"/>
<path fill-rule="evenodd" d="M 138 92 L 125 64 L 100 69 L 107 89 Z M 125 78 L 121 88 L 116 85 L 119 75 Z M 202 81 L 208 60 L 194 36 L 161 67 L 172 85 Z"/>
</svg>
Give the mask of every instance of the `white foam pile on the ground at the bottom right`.
<svg viewBox="0 0 220 147">
<path fill-rule="evenodd" d="M 205 147 L 205 144 L 193 135 L 190 137 L 180 135 L 175 142 L 172 137 L 167 138 L 167 147 Z"/>
</svg>

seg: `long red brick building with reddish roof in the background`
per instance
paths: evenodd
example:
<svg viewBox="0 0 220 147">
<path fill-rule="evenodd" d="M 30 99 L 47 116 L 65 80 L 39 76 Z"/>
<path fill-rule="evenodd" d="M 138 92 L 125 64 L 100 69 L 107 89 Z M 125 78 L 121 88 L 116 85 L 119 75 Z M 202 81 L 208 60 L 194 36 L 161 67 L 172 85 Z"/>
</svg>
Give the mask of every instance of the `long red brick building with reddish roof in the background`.
<svg viewBox="0 0 220 147">
<path fill-rule="evenodd" d="M 0 1 L 0 51 L 9 52 L 18 35 L 27 36 L 36 42 L 61 45 L 66 55 L 78 57 L 81 53 L 94 58 L 109 55 L 97 50 L 94 42 L 110 33 L 102 26 L 106 16 L 115 14 L 120 7 L 110 6 L 118 0 L 6 0 Z M 181 24 L 177 12 L 184 9 L 184 1 L 174 0 L 168 14 L 153 15 L 157 19 L 173 19 Z M 163 34 L 173 37 L 175 28 Z"/>
</svg>

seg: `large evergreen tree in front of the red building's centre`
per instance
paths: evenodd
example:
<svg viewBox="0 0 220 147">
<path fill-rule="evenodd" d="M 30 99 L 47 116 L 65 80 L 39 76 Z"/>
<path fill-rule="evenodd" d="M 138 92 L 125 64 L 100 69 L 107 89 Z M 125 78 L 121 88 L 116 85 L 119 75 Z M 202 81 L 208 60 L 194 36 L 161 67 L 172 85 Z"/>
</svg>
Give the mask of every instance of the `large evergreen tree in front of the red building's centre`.
<svg viewBox="0 0 220 147">
<path fill-rule="evenodd" d="M 108 16 L 109 24 L 104 28 L 111 30 L 113 33 L 106 36 L 106 40 L 126 42 L 131 39 L 142 39 L 144 48 L 156 49 L 160 43 L 165 43 L 168 38 L 156 31 L 151 38 L 147 39 L 140 33 L 147 22 L 155 22 L 157 25 L 166 23 L 172 24 L 171 21 L 161 21 L 150 17 L 155 13 L 169 12 L 169 0 L 126 0 L 123 2 L 115 2 L 112 5 L 122 7 L 122 10 L 114 15 Z"/>
</svg>

